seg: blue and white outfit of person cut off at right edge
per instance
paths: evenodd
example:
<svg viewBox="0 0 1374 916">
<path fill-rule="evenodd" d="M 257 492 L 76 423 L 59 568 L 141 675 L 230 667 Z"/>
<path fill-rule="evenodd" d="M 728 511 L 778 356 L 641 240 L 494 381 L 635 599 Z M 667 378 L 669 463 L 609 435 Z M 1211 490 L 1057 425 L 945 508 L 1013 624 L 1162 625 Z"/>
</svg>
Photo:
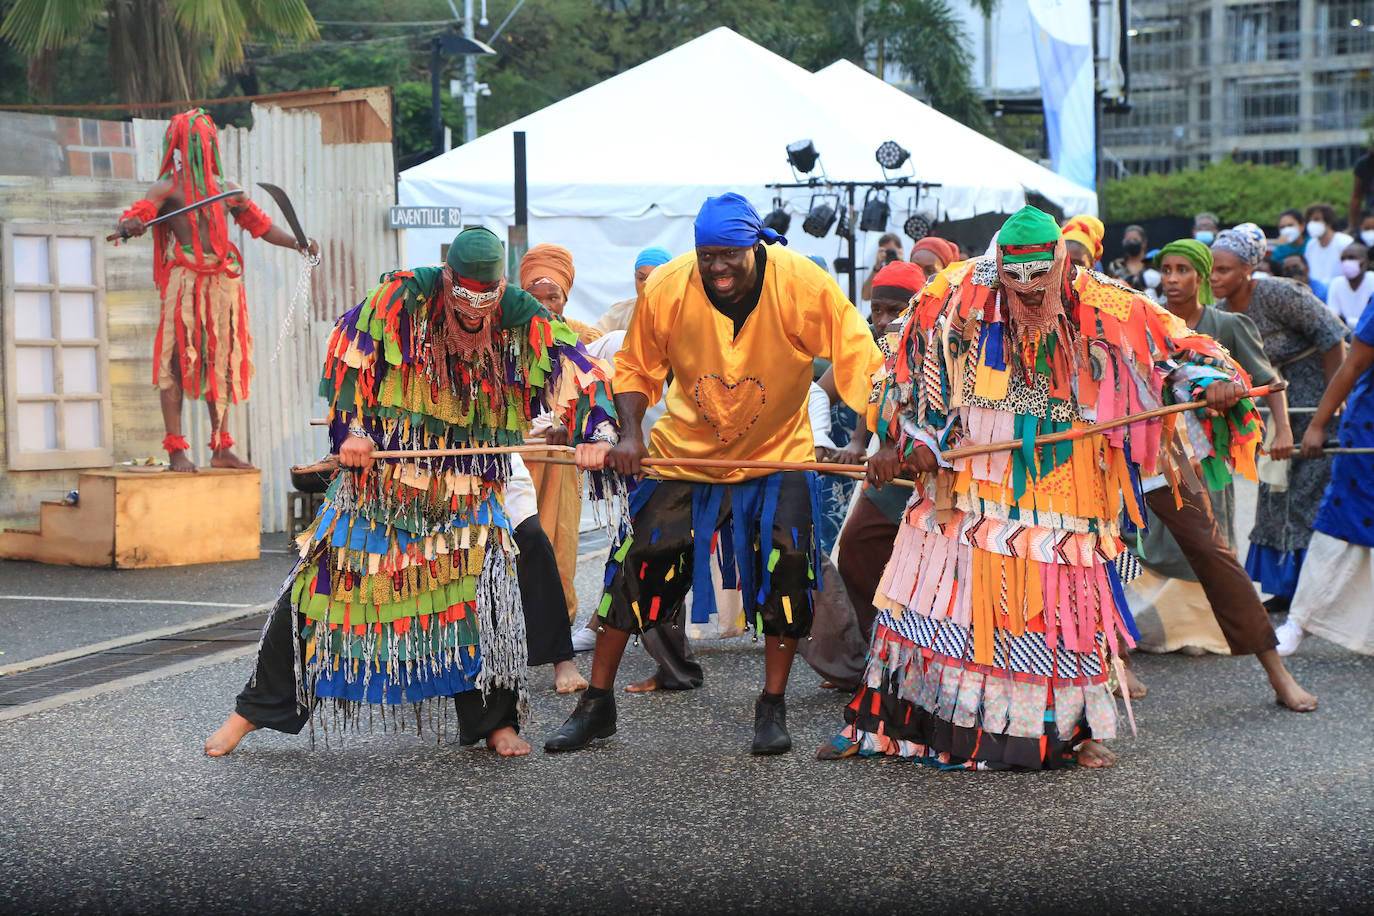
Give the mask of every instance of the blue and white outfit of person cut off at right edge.
<svg viewBox="0 0 1374 916">
<path fill-rule="evenodd" d="M 1374 346 L 1374 305 L 1355 325 L 1355 339 Z M 1374 448 L 1374 369 L 1345 400 L 1342 448 Z M 1331 481 L 1312 525 L 1289 619 L 1355 652 L 1374 655 L 1374 455 L 1336 455 Z"/>
</svg>

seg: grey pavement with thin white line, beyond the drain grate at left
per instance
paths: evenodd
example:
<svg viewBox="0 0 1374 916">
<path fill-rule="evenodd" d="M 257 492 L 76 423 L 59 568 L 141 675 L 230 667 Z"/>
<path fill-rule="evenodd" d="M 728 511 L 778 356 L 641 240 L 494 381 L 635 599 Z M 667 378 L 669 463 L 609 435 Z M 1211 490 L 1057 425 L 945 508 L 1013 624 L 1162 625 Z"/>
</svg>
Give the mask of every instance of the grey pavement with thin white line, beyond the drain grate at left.
<svg viewBox="0 0 1374 916">
<path fill-rule="evenodd" d="M 294 558 L 280 534 L 262 548 L 257 560 L 150 570 L 0 560 L 0 667 L 271 602 Z"/>
</svg>

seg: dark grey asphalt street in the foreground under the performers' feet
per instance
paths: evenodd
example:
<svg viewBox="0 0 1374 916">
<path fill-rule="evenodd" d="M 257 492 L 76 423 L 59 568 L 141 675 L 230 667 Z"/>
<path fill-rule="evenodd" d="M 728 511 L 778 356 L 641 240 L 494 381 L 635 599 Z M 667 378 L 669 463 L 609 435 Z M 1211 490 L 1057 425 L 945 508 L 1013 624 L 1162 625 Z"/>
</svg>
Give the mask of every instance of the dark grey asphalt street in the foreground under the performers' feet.
<svg viewBox="0 0 1374 916">
<path fill-rule="evenodd" d="M 750 758 L 757 647 L 702 656 L 703 689 L 622 698 L 562 757 L 378 725 L 207 759 L 246 659 L 0 724 L 0 909 L 1367 912 L 1371 658 L 1294 658 L 1300 715 L 1253 659 L 1140 656 L 1118 766 L 974 775 L 812 761 L 846 698 L 804 667 L 797 750 Z M 539 742 L 572 700 L 548 669 L 533 700 Z"/>
</svg>

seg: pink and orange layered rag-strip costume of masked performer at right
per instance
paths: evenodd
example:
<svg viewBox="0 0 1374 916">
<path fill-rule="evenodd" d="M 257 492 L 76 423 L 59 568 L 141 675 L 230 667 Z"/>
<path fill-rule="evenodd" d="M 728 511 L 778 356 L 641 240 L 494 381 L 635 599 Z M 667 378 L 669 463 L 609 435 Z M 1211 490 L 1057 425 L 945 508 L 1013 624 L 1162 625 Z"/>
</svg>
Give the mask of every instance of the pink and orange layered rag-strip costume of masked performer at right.
<svg viewBox="0 0 1374 916">
<path fill-rule="evenodd" d="M 1036 277 L 1046 258 L 1047 275 Z M 1009 282 L 1010 269 L 1015 282 Z M 1043 290 L 1039 306 L 1021 295 Z M 919 475 L 874 603 L 866 685 L 840 748 L 936 766 L 1041 769 L 1116 733 L 1107 663 L 1134 641 L 1117 562 L 1140 481 L 1191 452 L 1213 483 L 1253 472 L 1260 420 L 1241 401 L 1036 446 L 1035 437 L 1187 401 L 1243 379 L 1210 339 L 1101 273 L 1068 265 L 1033 207 L 996 257 L 933 277 L 912 301 L 871 419 L 910 455 L 1017 441 Z"/>
</svg>

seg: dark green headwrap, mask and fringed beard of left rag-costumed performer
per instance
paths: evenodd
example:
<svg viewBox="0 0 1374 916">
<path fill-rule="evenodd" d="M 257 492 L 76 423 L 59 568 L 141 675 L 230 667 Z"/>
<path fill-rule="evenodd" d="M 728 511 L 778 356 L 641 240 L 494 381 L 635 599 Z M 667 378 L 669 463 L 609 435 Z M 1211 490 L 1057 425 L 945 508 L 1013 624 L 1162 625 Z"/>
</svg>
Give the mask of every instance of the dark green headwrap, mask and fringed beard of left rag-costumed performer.
<svg viewBox="0 0 1374 916">
<path fill-rule="evenodd" d="M 495 288 L 482 290 L 493 284 Z M 451 358 L 471 367 L 473 378 L 492 372 L 496 365 L 500 302 L 506 294 L 506 246 L 489 229 L 463 229 L 448 246 L 440 287 L 426 335 L 430 347 L 427 365 L 440 387 L 452 390 L 458 374 L 451 371 Z M 463 327 L 464 321 L 477 325 L 477 330 L 469 331 Z M 493 408 L 504 409 L 506 396 L 500 385 L 493 387 L 491 397 Z"/>
</svg>

